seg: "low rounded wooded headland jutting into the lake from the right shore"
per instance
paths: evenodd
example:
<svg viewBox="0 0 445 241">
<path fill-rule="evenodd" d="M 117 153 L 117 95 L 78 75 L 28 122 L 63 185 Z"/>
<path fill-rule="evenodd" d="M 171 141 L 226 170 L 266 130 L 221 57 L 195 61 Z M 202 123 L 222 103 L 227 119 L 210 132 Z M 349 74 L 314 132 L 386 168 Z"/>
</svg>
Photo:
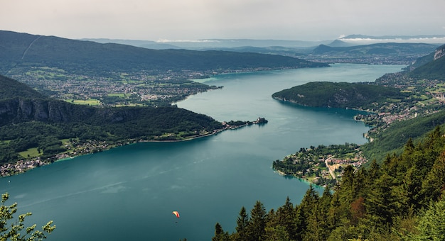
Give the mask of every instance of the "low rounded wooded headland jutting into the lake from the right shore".
<svg viewBox="0 0 445 241">
<path fill-rule="evenodd" d="M 274 93 L 272 97 L 303 106 L 366 108 L 372 106 L 372 103 L 400 101 L 407 94 L 400 89 L 374 84 L 309 82 Z"/>
</svg>

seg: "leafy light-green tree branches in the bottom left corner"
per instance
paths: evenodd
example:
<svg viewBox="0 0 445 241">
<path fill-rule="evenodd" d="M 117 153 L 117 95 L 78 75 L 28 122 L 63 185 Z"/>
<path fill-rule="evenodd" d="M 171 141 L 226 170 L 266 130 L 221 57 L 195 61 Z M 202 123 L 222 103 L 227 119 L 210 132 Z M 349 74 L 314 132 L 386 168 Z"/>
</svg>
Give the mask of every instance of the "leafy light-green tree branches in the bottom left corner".
<svg viewBox="0 0 445 241">
<path fill-rule="evenodd" d="M 24 222 L 27 216 L 32 213 L 25 213 L 18 215 L 18 220 L 12 221 L 14 219 L 14 213 L 17 212 L 17 203 L 13 203 L 11 206 L 6 206 L 5 203 L 9 199 L 9 194 L 1 195 L 1 206 L 0 206 L 0 240 L 44 240 L 46 235 L 49 235 L 55 229 L 53 221 L 46 223 L 42 230 L 36 230 L 36 225 L 25 228 Z M 23 229 L 25 233 L 23 234 Z M 21 233 L 22 232 L 22 233 Z"/>
</svg>

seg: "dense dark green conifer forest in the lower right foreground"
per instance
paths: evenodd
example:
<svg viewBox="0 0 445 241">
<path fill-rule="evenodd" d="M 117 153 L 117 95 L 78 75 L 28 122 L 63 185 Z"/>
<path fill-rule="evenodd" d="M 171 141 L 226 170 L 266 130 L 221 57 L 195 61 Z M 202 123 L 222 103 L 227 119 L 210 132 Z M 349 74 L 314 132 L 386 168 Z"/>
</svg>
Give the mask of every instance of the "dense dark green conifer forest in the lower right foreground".
<svg viewBox="0 0 445 241">
<path fill-rule="evenodd" d="M 445 240 L 444 190 L 445 137 L 436 127 L 382 164 L 345 168 L 333 192 L 310 186 L 299 205 L 286 198 L 269 213 L 257 201 L 250 217 L 243 207 L 235 232 L 219 225 L 214 240 Z"/>
</svg>

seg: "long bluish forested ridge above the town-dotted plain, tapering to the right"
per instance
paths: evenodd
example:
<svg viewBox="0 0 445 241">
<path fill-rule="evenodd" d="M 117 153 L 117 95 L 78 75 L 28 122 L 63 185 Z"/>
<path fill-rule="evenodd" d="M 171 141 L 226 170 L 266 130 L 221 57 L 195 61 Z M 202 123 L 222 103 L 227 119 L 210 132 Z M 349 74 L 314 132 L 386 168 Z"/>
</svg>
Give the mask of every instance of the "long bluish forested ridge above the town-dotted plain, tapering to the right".
<svg viewBox="0 0 445 241">
<path fill-rule="evenodd" d="M 70 40 L 0 31 L 0 71 L 20 67 L 57 67 L 67 72 L 218 71 L 218 69 L 324 67 L 294 57 L 227 51 L 150 50 L 130 45 Z"/>
</svg>

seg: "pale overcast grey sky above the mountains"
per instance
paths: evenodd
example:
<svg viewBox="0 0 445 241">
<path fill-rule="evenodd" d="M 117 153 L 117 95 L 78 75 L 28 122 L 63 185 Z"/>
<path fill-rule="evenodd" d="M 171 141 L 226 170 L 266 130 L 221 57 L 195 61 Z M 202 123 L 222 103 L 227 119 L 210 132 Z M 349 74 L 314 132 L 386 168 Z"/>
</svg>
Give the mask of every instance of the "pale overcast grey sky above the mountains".
<svg viewBox="0 0 445 241">
<path fill-rule="evenodd" d="M 133 40 L 445 35 L 445 0 L 0 0 L 0 30 Z"/>
</svg>

